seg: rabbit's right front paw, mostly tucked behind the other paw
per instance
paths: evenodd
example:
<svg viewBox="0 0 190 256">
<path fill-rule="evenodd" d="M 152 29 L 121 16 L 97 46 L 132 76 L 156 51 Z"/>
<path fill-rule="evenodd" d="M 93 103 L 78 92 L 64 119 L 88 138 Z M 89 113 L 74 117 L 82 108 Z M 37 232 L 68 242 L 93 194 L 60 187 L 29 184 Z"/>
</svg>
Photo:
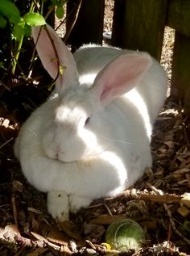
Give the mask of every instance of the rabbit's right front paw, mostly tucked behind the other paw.
<svg viewBox="0 0 190 256">
<path fill-rule="evenodd" d="M 72 213 L 76 213 L 81 208 L 89 206 L 89 204 L 92 202 L 92 199 L 75 194 L 69 195 L 68 200 L 69 210 Z"/>
</svg>

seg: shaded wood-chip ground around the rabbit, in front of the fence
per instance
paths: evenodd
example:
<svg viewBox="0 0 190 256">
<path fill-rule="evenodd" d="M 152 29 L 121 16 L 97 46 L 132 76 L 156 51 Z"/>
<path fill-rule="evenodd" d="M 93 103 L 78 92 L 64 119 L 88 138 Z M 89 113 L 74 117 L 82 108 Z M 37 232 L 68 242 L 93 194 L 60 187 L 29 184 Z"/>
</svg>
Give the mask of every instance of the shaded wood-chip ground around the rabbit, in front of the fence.
<svg viewBox="0 0 190 256">
<path fill-rule="evenodd" d="M 0 126 L 0 223 L 5 228 L 0 229 L 0 255 L 18 252 L 19 255 L 39 255 L 43 251 L 43 255 L 59 255 L 57 250 L 68 250 L 67 242 L 71 239 L 79 248 L 87 246 L 94 250 L 85 242 L 89 240 L 99 245 L 96 247 L 99 252 L 108 225 L 124 217 L 137 220 L 147 230 L 147 249 L 141 252 L 142 255 L 146 255 L 147 250 L 151 255 L 155 251 L 151 246 L 164 241 L 169 241 L 165 242 L 164 255 L 173 255 L 173 251 L 178 255 L 175 247 L 179 247 L 180 252 L 190 253 L 190 199 L 180 196 L 190 187 L 190 123 L 180 106 L 168 99 L 155 124 L 153 169 L 146 170 L 142 179 L 123 195 L 97 200 L 90 208 L 71 216 L 71 222 L 60 225 L 62 231 L 47 214 L 46 195 L 36 191 L 23 178 L 13 156 L 13 141 L 9 141 L 17 134 L 10 119 L 13 115 L 7 112 L 5 117 Z M 75 252 L 72 246 L 69 248 Z"/>
</svg>

